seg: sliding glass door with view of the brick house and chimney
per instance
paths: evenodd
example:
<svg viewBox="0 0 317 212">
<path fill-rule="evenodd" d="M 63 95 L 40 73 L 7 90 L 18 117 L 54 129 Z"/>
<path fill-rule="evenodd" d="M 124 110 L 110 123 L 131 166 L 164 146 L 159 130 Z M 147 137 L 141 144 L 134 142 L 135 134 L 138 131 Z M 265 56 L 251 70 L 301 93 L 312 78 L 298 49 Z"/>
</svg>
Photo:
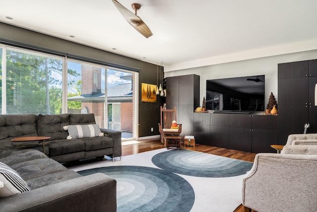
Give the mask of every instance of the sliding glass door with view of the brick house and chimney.
<svg viewBox="0 0 317 212">
<path fill-rule="evenodd" d="M 67 112 L 94 113 L 101 128 L 135 138 L 134 72 L 67 62 Z"/>
</svg>

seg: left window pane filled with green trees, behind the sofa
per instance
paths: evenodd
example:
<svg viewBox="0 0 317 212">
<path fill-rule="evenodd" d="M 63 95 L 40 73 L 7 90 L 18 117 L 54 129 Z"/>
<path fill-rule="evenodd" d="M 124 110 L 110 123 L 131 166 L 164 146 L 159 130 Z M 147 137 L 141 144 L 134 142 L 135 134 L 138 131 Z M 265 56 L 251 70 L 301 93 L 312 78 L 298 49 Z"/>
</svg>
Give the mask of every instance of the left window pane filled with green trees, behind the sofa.
<svg viewBox="0 0 317 212">
<path fill-rule="evenodd" d="M 62 60 L 6 48 L 5 113 L 59 114 Z"/>
</svg>

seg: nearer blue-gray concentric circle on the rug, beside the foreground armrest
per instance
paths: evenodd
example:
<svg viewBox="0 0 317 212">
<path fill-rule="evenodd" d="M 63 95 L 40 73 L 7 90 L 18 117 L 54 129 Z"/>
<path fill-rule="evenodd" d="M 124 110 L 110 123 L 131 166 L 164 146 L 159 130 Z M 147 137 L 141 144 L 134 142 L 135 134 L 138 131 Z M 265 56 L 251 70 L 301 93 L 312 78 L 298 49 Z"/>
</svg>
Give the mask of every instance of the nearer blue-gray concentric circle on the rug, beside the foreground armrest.
<svg viewBox="0 0 317 212">
<path fill-rule="evenodd" d="M 189 212 L 194 205 L 192 186 L 182 177 L 144 166 L 110 166 L 79 171 L 97 172 L 117 181 L 117 212 Z"/>
</svg>

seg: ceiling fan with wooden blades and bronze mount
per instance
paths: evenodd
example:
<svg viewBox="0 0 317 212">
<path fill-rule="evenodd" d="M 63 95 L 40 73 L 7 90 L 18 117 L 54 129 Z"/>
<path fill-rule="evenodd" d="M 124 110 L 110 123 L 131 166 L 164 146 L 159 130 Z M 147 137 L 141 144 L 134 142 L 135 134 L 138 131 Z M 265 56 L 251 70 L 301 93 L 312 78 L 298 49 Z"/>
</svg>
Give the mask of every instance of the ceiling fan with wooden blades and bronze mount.
<svg viewBox="0 0 317 212">
<path fill-rule="evenodd" d="M 128 21 L 128 23 L 135 28 L 138 32 L 140 32 L 144 37 L 149 38 L 153 35 L 150 28 L 143 22 L 143 20 L 137 16 L 137 10 L 141 8 L 141 4 L 133 3 L 131 6 L 135 11 L 135 14 L 125 8 L 122 4 L 120 4 L 117 0 L 112 0 L 114 5 L 121 12 L 122 16 Z"/>
</svg>

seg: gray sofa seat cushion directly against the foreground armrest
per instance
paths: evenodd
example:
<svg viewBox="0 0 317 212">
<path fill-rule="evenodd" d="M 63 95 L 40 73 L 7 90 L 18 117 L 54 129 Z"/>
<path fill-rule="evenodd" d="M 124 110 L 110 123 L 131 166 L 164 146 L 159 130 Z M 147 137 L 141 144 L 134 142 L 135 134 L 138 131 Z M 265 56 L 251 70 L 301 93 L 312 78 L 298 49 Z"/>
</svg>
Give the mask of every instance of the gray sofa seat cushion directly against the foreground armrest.
<svg viewBox="0 0 317 212">
<path fill-rule="evenodd" d="M 37 189 L 77 177 L 81 177 L 81 175 L 75 171 L 64 170 L 27 180 L 26 183 L 31 189 Z"/>
</svg>

